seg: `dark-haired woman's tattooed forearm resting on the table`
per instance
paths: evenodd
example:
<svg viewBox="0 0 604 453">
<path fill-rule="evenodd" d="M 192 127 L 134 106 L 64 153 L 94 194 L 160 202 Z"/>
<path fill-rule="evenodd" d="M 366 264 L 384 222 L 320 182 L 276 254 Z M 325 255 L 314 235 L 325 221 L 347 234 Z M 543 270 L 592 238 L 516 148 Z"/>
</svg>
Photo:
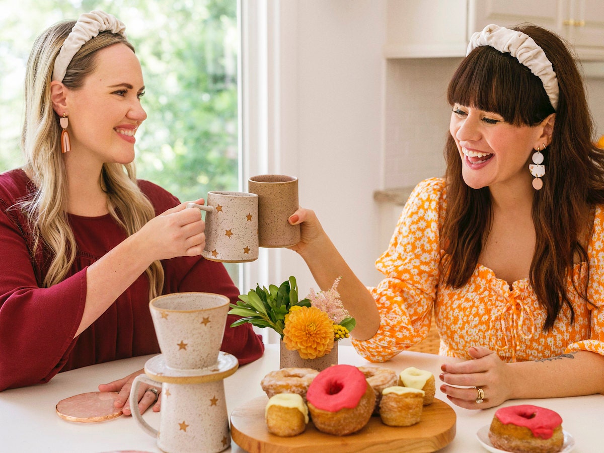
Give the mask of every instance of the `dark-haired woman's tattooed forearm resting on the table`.
<svg viewBox="0 0 604 453">
<path fill-rule="evenodd" d="M 508 399 L 554 398 L 604 393 L 604 357 L 593 352 L 509 364 Z"/>
</svg>

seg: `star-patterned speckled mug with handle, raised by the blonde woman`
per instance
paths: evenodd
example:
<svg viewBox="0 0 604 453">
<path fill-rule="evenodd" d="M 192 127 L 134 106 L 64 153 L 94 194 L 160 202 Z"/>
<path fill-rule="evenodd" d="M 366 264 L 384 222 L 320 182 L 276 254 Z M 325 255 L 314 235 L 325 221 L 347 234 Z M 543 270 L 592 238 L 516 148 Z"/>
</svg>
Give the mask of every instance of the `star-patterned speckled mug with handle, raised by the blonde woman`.
<svg viewBox="0 0 604 453">
<path fill-rule="evenodd" d="M 245 263 L 258 259 L 258 196 L 255 193 L 211 191 L 206 205 L 188 203 L 205 215 L 205 259 Z"/>
</svg>

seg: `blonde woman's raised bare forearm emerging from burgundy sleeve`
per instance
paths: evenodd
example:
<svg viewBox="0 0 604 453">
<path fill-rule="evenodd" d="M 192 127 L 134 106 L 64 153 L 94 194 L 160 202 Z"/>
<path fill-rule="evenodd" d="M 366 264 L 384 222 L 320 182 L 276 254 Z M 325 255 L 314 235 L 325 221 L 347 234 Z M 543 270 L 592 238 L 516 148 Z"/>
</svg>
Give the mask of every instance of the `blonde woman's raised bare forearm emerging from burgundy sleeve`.
<svg viewBox="0 0 604 453">
<path fill-rule="evenodd" d="M 86 271 L 86 304 L 76 336 L 94 323 L 152 262 L 135 234 L 89 266 Z"/>
</svg>

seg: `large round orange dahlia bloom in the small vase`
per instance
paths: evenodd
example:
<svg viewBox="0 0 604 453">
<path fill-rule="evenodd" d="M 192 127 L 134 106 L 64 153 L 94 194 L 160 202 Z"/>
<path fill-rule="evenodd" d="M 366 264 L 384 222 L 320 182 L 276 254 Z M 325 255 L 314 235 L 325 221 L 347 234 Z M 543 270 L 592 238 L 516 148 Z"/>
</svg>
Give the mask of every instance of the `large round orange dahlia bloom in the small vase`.
<svg viewBox="0 0 604 453">
<path fill-rule="evenodd" d="M 333 321 L 315 307 L 290 311 L 283 329 L 286 348 L 297 350 L 303 359 L 316 359 L 329 353 L 333 348 L 333 335 Z"/>
</svg>

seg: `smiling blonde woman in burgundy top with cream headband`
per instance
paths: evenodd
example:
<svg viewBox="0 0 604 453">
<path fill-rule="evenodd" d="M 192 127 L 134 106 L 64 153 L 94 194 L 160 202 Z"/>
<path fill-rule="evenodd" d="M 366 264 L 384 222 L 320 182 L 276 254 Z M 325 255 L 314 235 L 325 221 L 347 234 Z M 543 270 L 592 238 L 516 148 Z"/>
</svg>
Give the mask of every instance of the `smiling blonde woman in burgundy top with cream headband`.
<svg viewBox="0 0 604 453">
<path fill-rule="evenodd" d="M 82 14 L 34 43 L 27 164 L 0 175 L 0 390 L 158 353 L 148 306 L 156 295 L 239 294 L 222 264 L 201 257 L 199 210 L 135 179 L 143 94 L 140 63 L 114 16 Z M 226 327 L 222 346 L 241 364 L 263 353 L 249 324 Z M 126 414 L 140 372 L 99 386 L 120 391 Z M 156 391 L 141 390 L 141 410 L 159 410 Z"/>
</svg>

